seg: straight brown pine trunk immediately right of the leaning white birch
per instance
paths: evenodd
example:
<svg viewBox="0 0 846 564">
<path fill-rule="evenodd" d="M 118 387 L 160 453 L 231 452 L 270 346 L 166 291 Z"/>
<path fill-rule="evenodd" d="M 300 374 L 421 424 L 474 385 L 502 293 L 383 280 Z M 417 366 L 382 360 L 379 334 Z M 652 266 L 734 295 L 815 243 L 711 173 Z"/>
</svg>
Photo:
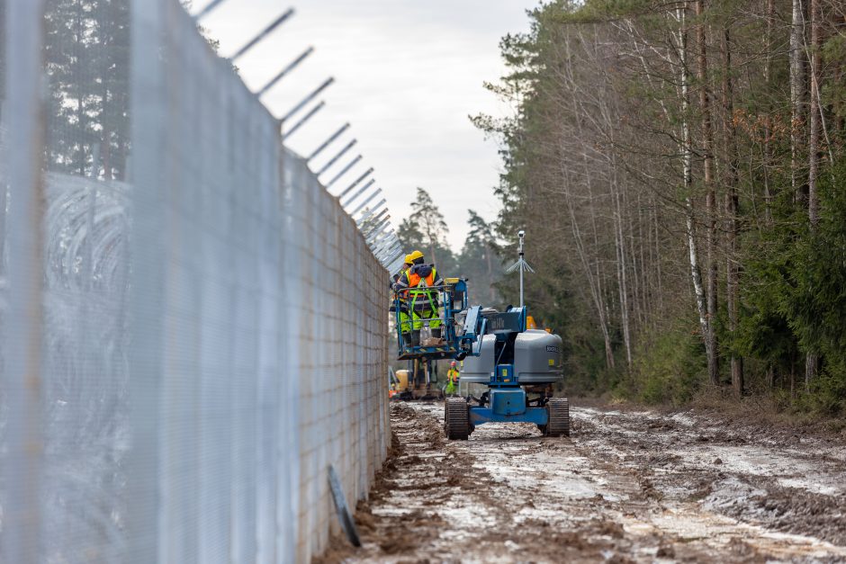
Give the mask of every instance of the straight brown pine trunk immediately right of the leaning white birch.
<svg viewBox="0 0 846 564">
<path fill-rule="evenodd" d="M 705 34 L 705 2 L 694 4 L 698 17 L 697 25 L 697 77 L 699 80 L 699 112 L 702 115 L 702 180 L 705 184 L 705 207 L 707 214 L 707 345 L 708 380 L 717 386 L 720 383 L 720 368 L 716 350 L 717 264 L 716 264 L 716 192 L 714 190 L 714 133 L 711 130 L 711 101 L 708 94 L 708 58 Z"/>
</svg>

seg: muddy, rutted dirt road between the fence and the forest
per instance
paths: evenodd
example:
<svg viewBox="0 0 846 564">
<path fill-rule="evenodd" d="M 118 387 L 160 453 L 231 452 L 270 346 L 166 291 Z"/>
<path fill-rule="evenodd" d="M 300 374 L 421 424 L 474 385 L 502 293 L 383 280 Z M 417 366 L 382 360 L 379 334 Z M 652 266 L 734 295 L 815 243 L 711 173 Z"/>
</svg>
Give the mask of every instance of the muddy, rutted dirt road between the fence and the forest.
<svg viewBox="0 0 846 564">
<path fill-rule="evenodd" d="M 446 442 L 442 420 L 392 406 L 364 547 L 326 561 L 846 562 L 842 439 L 576 407 L 570 438 L 483 425 Z"/>
</svg>

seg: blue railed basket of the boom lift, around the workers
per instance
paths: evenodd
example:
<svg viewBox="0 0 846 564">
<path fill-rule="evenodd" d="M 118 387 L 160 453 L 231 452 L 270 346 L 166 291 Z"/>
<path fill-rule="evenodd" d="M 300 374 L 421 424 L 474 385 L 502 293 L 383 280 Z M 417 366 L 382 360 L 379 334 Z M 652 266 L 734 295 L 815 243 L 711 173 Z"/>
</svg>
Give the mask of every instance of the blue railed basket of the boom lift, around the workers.
<svg viewBox="0 0 846 564">
<path fill-rule="evenodd" d="M 433 303 L 434 316 L 421 317 L 432 309 L 415 313 L 412 300 L 425 294 L 426 300 Z M 431 295 L 435 294 L 434 298 Z M 394 291 L 392 312 L 396 322 L 397 359 L 455 358 L 461 354 L 461 332 L 464 317 L 469 309 L 467 281 L 463 278 L 446 278 L 437 286 L 425 286 Z M 415 328 L 417 327 L 417 328 Z M 440 329 L 440 338 L 432 336 L 432 329 Z M 412 341 L 412 332 L 419 331 L 419 342 Z"/>
</svg>

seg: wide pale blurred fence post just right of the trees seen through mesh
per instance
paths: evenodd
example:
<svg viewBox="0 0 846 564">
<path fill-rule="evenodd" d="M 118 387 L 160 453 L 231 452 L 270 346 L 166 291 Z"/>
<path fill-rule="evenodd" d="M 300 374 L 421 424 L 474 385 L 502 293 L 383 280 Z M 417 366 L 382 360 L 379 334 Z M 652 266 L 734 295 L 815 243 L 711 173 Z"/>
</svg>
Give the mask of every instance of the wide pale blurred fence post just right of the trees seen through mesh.
<svg viewBox="0 0 846 564">
<path fill-rule="evenodd" d="M 164 230 L 161 210 L 161 139 L 165 139 L 161 106 L 163 68 L 157 49 L 162 31 L 164 0 L 132 0 L 130 100 L 132 103 L 133 154 L 130 178 L 133 221 L 131 237 L 132 346 L 129 354 L 129 386 L 132 449 L 129 454 L 127 498 L 132 510 L 127 515 L 127 552 L 130 562 L 161 561 L 163 536 L 160 496 L 160 418 L 162 380 L 161 292 L 164 265 L 161 240 Z M 136 166 L 137 165 L 137 166 Z"/>
</svg>

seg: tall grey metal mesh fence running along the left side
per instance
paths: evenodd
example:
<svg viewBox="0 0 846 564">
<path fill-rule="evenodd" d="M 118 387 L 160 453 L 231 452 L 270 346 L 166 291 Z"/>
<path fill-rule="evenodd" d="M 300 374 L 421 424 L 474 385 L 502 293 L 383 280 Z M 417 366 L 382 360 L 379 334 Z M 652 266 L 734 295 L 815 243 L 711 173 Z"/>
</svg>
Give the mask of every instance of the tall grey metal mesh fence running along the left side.
<svg viewBox="0 0 846 564">
<path fill-rule="evenodd" d="M 0 560 L 310 560 L 387 449 L 383 265 L 175 0 L 0 29 Z"/>
</svg>

